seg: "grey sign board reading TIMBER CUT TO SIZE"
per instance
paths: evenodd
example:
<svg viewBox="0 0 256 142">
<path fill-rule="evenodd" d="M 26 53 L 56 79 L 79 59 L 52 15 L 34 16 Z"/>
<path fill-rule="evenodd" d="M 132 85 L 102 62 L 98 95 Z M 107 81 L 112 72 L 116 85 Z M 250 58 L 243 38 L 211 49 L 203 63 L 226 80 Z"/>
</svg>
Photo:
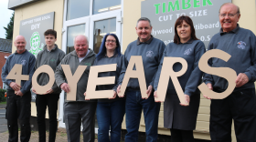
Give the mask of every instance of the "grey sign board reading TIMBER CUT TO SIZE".
<svg viewBox="0 0 256 142">
<path fill-rule="evenodd" d="M 208 47 L 211 37 L 219 32 L 219 7 L 231 0 L 146 0 L 142 2 L 142 17 L 151 20 L 152 35 L 164 41 L 174 41 L 175 23 L 180 15 L 188 15 L 194 23 L 197 38 Z"/>
</svg>

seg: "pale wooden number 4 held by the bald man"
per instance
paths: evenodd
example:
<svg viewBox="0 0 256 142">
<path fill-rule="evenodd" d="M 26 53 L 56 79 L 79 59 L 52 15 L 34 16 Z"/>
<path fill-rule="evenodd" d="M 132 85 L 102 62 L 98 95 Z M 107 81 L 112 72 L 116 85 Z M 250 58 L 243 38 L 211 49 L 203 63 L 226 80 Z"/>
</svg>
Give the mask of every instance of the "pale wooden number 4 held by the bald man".
<svg viewBox="0 0 256 142">
<path fill-rule="evenodd" d="M 29 76 L 28 75 L 21 75 L 21 73 L 22 73 L 22 65 L 16 64 L 12 68 L 12 70 L 10 71 L 8 76 L 6 76 L 6 79 L 15 79 L 16 80 L 16 84 L 18 86 L 20 86 L 21 85 L 21 80 L 29 80 Z"/>
</svg>

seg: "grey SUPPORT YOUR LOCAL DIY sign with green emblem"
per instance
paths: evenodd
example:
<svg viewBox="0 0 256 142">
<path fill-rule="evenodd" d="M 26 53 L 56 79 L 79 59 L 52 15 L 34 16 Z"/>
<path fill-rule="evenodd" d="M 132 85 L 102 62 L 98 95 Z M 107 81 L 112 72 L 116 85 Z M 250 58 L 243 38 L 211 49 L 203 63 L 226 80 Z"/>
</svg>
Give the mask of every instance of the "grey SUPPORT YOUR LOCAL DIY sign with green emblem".
<svg viewBox="0 0 256 142">
<path fill-rule="evenodd" d="M 43 50 L 46 45 L 44 33 L 54 27 L 54 12 L 37 15 L 35 17 L 20 21 L 19 35 L 26 38 L 26 49 L 34 56 Z M 32 93 L 32 101 L 36 100 L 36 94 Z"/>
</svg>

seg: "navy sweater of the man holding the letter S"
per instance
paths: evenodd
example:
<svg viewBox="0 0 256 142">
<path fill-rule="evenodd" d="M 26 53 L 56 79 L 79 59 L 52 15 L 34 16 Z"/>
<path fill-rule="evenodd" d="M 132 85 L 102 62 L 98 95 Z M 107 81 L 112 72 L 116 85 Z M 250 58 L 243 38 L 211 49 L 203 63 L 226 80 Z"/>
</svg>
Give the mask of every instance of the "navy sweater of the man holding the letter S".
<svg viewBox="0 0 256 142">
<path fill-rule="evenodd" d="M 256 37 L 248 29 L 239 25 L 229 33 L 220 32 L 212 37 L 208 50 L 220 49 L 231 56 L 228 62 L 219 58 L 211 58 L 208 65 L 213 67 L 230 67 L 236 71 L 237 75 L 244 73 L 248 76 L 249 82 L 243 86 L 236 87 L 234 91 L 246 88 L 254 88 L 256 80 Z M 219 76 L 206 74 L 204 76 L 206 84 L 211 83 L 213 88 L 224 91 L 228 87 L 228 81 Z"/>
</svg>

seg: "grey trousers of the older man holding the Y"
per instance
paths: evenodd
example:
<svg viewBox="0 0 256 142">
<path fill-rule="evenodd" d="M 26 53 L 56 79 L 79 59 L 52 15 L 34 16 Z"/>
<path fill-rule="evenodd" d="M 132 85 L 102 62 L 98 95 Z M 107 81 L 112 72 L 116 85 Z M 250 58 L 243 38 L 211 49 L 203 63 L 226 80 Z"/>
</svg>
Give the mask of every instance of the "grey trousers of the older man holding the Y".
<svg viewBox="0 0 256 142">
<path fill-rule="evenodd" d="M 64 119 L 69 142 L 80 142 L 81 123 L 83 142 L 94 142 L 96 106 L 97 102 L 64 103 Z"/>
</svg>

